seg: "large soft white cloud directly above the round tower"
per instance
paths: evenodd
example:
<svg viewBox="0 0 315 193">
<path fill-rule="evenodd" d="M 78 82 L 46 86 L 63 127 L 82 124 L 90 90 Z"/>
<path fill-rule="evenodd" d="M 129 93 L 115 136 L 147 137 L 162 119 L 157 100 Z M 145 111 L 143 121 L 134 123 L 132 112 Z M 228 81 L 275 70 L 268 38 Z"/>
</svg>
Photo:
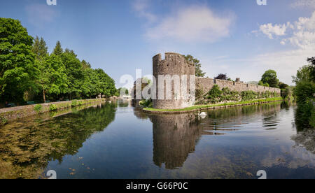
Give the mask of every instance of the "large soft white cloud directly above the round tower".
<svg viewBox="0 0 315 193">
<path fill-rule="evenodd" d="M 230 36 L 234 15 L 220 17 L 206 6 L 179 8 L 146 32 L 151 40 L 214 42 Z"/>
</svg>

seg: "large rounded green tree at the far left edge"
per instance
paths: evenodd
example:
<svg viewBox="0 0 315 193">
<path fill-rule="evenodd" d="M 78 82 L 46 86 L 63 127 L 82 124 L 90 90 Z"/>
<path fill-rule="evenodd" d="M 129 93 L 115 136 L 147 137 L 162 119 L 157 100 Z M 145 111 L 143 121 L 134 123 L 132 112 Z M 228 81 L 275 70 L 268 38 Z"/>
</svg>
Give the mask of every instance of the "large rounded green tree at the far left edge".
<svg viewBox="0 0 315 193">
<path fill-rule="evenodd" d="M 22 101 L 34 87 L 38 70 L 31 52 L 33 38 L 18 20 L 0 18 L 0 99 Z"/>
</svg>

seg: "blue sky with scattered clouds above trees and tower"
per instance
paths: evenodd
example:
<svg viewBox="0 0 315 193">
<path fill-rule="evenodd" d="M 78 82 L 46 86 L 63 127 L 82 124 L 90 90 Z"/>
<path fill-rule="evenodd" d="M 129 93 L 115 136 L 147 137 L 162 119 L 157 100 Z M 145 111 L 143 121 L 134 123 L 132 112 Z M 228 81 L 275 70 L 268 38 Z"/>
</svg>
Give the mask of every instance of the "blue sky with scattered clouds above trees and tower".
<svg viewBox="0 0 315 193">
<path fill-rule="evenodd" d="M 267 69 L 291 76 L 315 55 L 315 1 L 0 0 L 0 17 L 22 22 L 49 51 L 61 41 L 116 80 L 152 73 L 152 57 L 179 52 L 200 59 L 213 78 L 259 80 Z"/>
</svg>

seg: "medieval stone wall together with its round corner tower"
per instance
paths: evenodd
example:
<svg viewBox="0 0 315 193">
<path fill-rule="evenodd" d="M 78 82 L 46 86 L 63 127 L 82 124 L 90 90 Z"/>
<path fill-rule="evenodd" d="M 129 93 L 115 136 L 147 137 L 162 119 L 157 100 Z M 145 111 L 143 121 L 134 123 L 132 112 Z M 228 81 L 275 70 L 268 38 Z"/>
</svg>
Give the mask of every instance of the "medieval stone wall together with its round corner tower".
<svg viewBox="0 0 315 193">
<path fill-rule="evenodd" d="M 183 97 L 183 93 L 176 93 L 174 90 L 174 80 L 172 81 L 171 91 L 167 91 L 166 81 L 164 81 L 164 97 L 160 98 L 159 94 L 160 86 L 159 85 L 159 76 L 179 76 L 180 84 L 183 85 L 181 78 L 183 75 L 187 76 L 187 91 L 186 97 Z M 165 59 L 162 59 L 162 55 L 158 54 L 153 57 L 153 76 L 155 77 L 155 96 L 156 99 L 153 99 L 153 108 L 160 109 L 178 109 L 186 108 L 193 106 L 195 103 L 195 98 L 193 97 L 193 92 L 195 90 L 203 90 L 204 93 L 209 92 L 214 85 L 218 85 L 221 89 L 228 87 L 230 90 L 235 90 L 237 92 L 252 90 L 254 92 L 276 92 L 277 94 L 281 93 L 280 89 L 272 87 L 263 87 L 258 85 L 251 85 L 246 83 L 232 82 L 227 80 L 214 80 L 212 78 L 200 78 L 195 79 L 194 87 L 190 87 L 190 76 L 195 76 L 195 65 L 190 64 L 186 61 L 183 55 L 167 52 L 165 53 Z M 154 80 L 153 80 L 154 81 Z M 162 84 L 162 81 L 160 81 Z M 154 84 L 153 84 L 154 85 Z M 161 89 L 163 90 L 163 89 Z M 171 93 L 169 93 L 171 92 Z M 135 93 L 134 93 L 135 94 Z M 154 94 L 154 93 L 151 93 Z M 170 99 L 167 99 L 167 94 L 172 94 Z M 188 97 L 187 97 L 188 96 Z"/>
</svg>

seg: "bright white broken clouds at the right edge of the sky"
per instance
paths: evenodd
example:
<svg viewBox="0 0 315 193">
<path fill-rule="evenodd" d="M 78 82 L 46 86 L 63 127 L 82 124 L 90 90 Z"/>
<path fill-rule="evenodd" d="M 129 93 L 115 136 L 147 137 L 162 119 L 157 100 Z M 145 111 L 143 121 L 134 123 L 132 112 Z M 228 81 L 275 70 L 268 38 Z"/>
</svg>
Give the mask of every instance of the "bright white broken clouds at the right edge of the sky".
<svg viewBox="0 0 315 193">
<path fill-rule="evenodd" d="M 290 83 L 297 69 L 307 64 L 307 58 L 315 56 L 315 11 L 292 24 L 263 24 L 260 31 L 271 39 L 281 37 L 281 45 L 290 46 L 291 50 L 267 52 L 249 59 L 255 69 L 274 69 L 280 80 Z"/>
</svg>

